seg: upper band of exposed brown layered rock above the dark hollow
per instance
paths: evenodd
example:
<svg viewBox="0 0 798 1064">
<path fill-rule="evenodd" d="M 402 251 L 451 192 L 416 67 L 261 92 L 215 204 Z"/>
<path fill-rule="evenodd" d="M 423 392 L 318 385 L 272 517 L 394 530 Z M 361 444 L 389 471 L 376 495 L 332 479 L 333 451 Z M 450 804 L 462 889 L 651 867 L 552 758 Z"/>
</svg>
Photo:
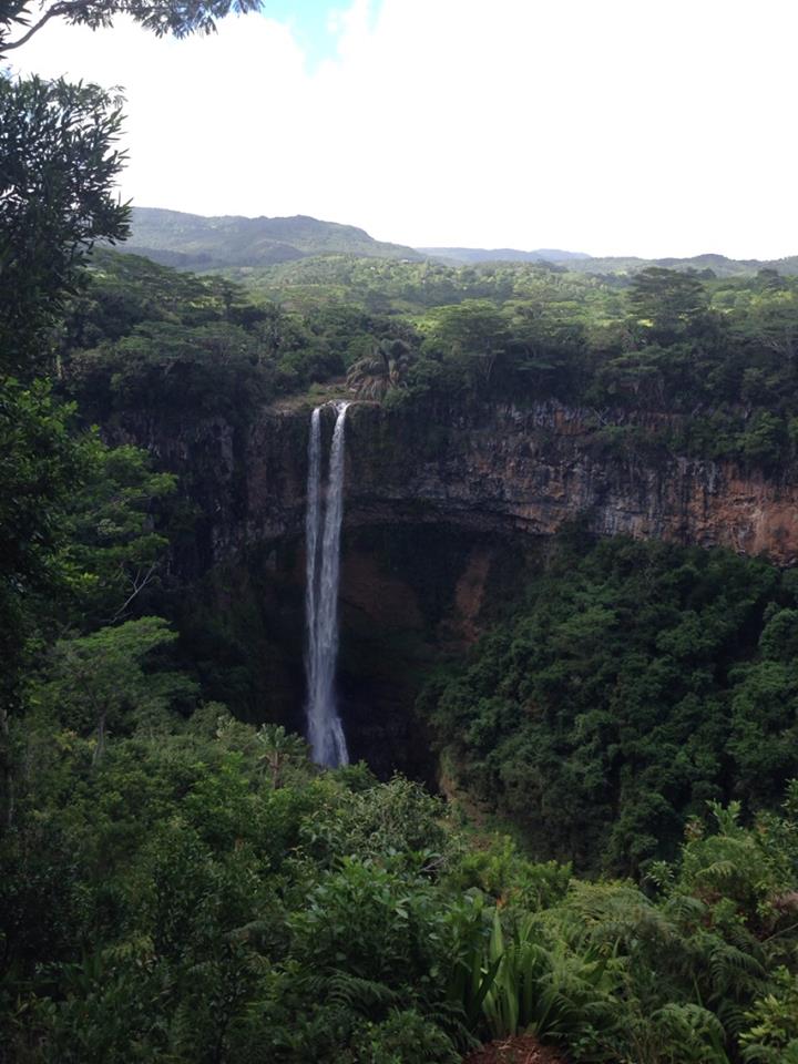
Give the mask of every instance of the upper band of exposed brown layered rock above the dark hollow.
<svg viewBox="0 0 798 1064">
<path fill-rule="evenodd" d="M 330 411 L 328 432 L 331 421 Z M 300 533 L 306 426 L 306 411 L 264 411 L 246 443 L 244 521 L 219 514 L 217 550 Z M 601 535 L 798 559 L 798 471 L 767 478 L 730 463 L 607 453 L 586 411 L 357 403 L 347 433 L 349 528 L 448 521 L 538 536 L 583 516 Z"/>
</svg>

